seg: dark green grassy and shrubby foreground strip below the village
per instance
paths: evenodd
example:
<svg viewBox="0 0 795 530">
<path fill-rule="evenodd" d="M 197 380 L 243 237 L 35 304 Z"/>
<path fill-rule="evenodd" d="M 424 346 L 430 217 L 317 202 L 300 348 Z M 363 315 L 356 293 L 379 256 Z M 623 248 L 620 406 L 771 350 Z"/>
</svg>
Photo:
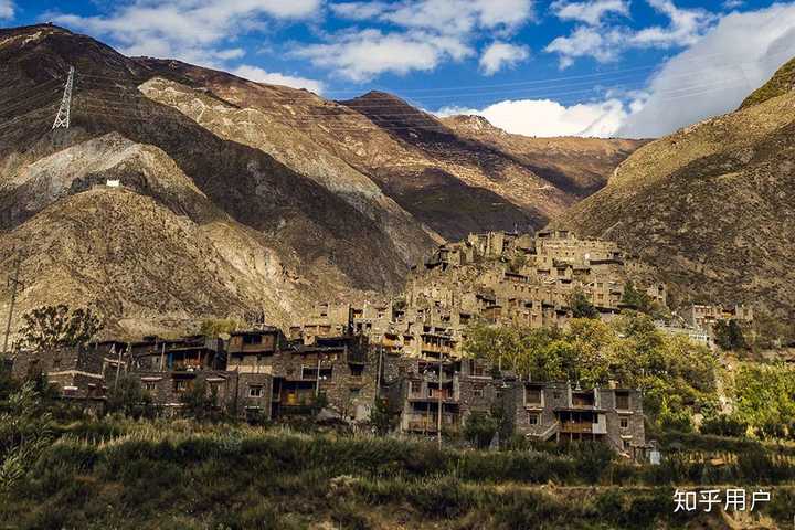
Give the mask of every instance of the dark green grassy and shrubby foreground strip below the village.
<svg viewBox="0 0 795 530">
<path fill-rule="evenodd" d="M 80 420 L 60 425 L 4 494 L 0 528 L 732 528 L 719 513 L 675 515 L 674 484 L 768 485 L 772 502 L 734 528 L 789 528 L 789 458 L 751 449 L 714 465 L 685 453 L 638 467 L 598 446 L 439 451 L 280 427 Z"/>
</svg>

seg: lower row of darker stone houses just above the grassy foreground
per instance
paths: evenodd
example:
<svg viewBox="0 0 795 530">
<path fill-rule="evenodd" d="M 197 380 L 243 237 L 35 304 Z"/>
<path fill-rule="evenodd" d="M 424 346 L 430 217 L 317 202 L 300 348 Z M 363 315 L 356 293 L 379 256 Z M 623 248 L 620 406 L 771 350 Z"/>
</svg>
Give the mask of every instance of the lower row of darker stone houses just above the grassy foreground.
<svg viewBox="0 0 795 530">
<path fill-rule="evenodd" d="M 349 330 L 350 331 L 350 330 Z M 642 396 L 632 389 L 582 390 L 495 373 L 473 359 L 407 357 L 348 332 L 290 340 L 277 328 L 225 339 L 147 337 L 49 351 L 19 351 L 17 377 L 44 373 L 66 399 L 100 404 L 123 374 L 165 410 L 203 384 L 213 406 L 273 421 L 321 413 L 367 422 L 379 399 L 401 433 L 460 431 L 473 414 L 505 410 L 517 433 L 544 441 L 603 441 L 627 456 L 646 448 Z"/>
</svg>

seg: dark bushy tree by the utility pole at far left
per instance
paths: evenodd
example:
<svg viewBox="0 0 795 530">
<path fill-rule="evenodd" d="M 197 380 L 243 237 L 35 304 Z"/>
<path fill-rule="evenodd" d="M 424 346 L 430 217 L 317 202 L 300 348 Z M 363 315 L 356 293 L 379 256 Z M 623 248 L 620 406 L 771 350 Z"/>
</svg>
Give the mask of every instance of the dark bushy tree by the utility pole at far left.
<svg viewBox="0 0 795 530">
<path fill-rule="evenodd" d="M 43 306 L 22 316 L 22 343 L 33 349 L 85 346 L 102 331 L 102 317 L 92 309 Z"/>
</svg>

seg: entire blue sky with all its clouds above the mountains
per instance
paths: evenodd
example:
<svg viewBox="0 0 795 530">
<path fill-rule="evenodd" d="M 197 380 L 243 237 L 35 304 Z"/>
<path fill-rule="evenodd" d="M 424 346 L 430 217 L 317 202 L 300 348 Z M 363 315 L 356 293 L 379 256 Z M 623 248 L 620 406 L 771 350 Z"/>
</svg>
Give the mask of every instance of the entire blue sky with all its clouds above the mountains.
<svg viewBox="0 0 795 530">
<path fill-rule="evenodd" d="M 734 108 L 795 56 L 795 2 L 770 0 L 0 0 L 3 25 L 40 21 L 536 136 L 660 136 Z"/>
</svg>

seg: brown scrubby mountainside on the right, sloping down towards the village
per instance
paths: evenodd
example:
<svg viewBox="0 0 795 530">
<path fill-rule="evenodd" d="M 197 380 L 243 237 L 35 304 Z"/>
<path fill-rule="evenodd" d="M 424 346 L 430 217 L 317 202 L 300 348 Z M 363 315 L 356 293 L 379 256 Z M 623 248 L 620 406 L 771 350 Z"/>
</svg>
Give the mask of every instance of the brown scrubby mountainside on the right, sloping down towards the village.
<svg viewBox="0 0 795 530">
<path fill-rule="evenodd" d="M 553 225 L 635 250 L 680 301 L 749 303 L 794 320 L 793 64 L 736 112 L 638 149 Z"/>
</svg>

